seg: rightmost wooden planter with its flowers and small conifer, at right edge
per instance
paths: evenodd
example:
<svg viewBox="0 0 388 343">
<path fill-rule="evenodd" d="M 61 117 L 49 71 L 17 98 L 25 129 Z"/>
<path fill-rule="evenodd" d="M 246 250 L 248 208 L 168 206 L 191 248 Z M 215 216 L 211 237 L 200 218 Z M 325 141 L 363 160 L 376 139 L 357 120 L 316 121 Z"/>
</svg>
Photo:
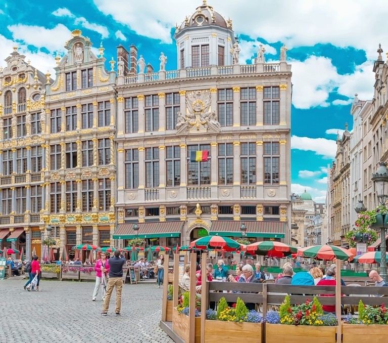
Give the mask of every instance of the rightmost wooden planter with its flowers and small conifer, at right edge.
<svg viewBox="0 0 388 343">
<path fill-rule="evenodd" d="M 358 318 L 347 317 L 342 326 L 343 343 L 354 343 L 357 339 L 364 339 L 366 335 L 371 342 L 386 340 L 388 332 L 388 307 L 366 306 L 362 300 L 358 303 Z"/>
</svg>

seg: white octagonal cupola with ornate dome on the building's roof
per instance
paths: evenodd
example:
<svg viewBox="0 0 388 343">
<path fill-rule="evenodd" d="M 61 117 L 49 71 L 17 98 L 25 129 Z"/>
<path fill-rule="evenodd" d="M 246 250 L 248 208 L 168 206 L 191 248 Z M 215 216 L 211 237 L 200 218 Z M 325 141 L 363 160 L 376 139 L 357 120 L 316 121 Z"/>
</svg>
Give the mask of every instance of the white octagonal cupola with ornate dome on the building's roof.
<svg viewBox="0 0 388 343">
<path fill-rule="evenodd" d="M 232 21 L 215 12 L 206 0 L 175 29 L 179 69 L 232 65 L 230 50 L 236 41 Z"/>
</svg>

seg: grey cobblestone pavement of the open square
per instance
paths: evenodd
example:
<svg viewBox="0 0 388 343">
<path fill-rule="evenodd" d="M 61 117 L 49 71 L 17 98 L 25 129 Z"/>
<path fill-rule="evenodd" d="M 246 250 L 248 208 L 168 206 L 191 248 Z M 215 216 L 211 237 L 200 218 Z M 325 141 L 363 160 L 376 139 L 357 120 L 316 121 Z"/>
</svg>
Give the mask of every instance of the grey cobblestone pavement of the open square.
<svg viewBox="0 0 388 343">
<path fill-rule="evenodd" d="M 154 284 L 123 285 L 115 317 L 115 291 L 108 316 L 101 316 L 101 293 L 91 301 L 92 282 L 42 280 L 41 292 L 24 290 L 24 283 L 0 280 L 0 343 L 173 342 L 159 327 L 162 289 Z"/>
</svg>

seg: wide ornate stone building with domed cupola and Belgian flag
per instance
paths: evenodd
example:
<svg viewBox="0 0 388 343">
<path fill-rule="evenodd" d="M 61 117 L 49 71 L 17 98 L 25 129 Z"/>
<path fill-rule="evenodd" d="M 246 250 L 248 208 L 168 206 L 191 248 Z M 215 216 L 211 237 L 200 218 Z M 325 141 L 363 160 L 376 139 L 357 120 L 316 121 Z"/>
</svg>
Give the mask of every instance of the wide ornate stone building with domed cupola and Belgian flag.
<svg viewBox="0 0 388 343">
<path fill-rule="evenodd" d="M 239 237 L 244 223 L 253 240 L 290 242 L 290 65 L 265 63 L 262 51 L 256 64 L 240 65 L 232 21 L 206 1 L 174 38 L 174 71 L 162 54 L 158 72 L 144 74 L 138 62 L 137 73 L 137 50 L 118 48 L 129 65 L 115 88 L 113 238 L 185 245 L 208 232 Z M 192 161 L 198 151 L 208 160 Z"/>
</svg>

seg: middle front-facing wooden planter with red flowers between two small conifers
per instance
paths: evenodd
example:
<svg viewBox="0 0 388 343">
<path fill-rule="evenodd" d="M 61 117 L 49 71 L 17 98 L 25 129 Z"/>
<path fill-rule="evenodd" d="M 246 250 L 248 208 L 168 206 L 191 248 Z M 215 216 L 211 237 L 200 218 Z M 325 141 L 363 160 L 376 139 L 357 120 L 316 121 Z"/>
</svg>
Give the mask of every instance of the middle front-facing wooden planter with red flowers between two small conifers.
<svg viewBox="0 0 388 343">
<path fill-rule="evenodd" d="M 324 315 L 316 297 L 312 302 L 308 299 L 305 304 L 292 306 L 289 295 L 286 295 L 278 314 L 272 311 L 267 313 L 265 339 L 267 343 L 289 341 L 289 337 L 299 343 L 334 343 L 336 325 L 335 316 Z"/>
</svg>

